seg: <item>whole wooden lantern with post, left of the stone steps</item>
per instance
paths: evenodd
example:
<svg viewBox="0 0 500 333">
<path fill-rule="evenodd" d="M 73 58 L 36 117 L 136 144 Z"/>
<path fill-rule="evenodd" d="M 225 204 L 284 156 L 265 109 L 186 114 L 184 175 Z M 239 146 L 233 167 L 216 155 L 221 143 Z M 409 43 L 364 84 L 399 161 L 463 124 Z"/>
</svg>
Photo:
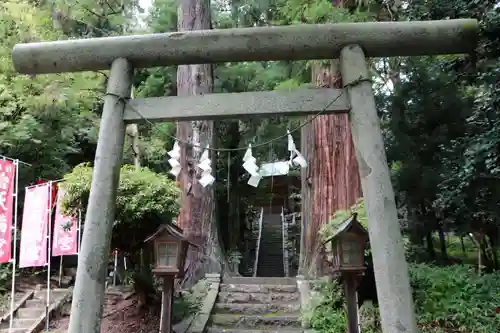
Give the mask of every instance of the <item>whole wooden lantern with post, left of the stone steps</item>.
<svg viewBox="0 0 500 333">
<path fill-rule="evenodd" d="M 160 333 L 171 333 L 174 279 L 184 276 L 189 246 L 198 246 L 189 242 L 174 224 L 162 225 L 145 242 L 153 243 L 153 273 L 163 278 Z"/>
</svg>

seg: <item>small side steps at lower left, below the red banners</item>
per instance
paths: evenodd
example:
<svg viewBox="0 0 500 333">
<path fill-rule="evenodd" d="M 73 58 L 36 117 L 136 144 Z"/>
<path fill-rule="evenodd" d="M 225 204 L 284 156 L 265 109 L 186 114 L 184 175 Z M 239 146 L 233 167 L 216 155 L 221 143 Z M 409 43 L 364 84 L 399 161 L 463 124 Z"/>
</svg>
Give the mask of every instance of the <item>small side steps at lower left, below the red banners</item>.
<svg viewBox="0 0 500 333">
<path fill-rule="evenodd" d="M 60 303 L 69 293 L 68 289 L 51 289 L 49 311 L 52 311 L 56 304 Z M 45 322 L 46 299 L 46 289 L 27 292 L 22 297 L 16 296 L 14 320 L 10 332 L 31 333 L 40 331 Z M 8 313 L 1 318 L 0 333 L 9 333 L 9 318 Z"/>
</svg>

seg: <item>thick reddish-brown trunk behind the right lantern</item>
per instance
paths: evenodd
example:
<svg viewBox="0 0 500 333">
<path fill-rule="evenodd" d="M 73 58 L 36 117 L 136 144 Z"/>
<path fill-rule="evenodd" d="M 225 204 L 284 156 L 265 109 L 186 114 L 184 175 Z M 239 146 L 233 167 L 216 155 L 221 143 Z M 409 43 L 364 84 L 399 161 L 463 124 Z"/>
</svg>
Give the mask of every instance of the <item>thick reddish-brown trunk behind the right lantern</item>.
<svg viewBox="0 0 500 333">
<path fill-rule="evenodd" d="M 314 65 L 312 81 L 317 87 L 341 87 L 338 61 Z M 301 273 L 322 274 L 319 230 L 333 213 L 351 207 L 362 196 L 361 182 L 349 117 L 319 116 L 302 129 L 302 153 L 309 167 L 302 174 L 304 223 Z"/>
</svg>

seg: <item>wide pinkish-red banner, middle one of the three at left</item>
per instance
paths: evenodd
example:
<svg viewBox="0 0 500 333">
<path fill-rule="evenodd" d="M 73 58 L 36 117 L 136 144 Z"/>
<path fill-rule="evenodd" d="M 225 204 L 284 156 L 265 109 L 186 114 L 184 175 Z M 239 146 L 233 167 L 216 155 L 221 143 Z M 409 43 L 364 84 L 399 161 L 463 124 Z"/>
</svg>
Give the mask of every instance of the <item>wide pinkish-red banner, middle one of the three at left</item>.
<svg viewBox="0 0 500 333">
<path fill-rule="evenodd" d="M 49 184 L 26 188 L 19 253 L 20 268 L 44 266 L 47 263 L 49 191 Z"/>
</svg>

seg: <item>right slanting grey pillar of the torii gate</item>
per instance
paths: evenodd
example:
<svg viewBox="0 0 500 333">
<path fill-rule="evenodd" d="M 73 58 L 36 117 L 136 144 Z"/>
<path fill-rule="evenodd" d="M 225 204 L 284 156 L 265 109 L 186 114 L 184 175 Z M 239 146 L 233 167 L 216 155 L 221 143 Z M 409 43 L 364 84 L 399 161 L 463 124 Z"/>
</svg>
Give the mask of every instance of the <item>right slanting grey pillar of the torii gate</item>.
<svg viewBox="0 0 500 333">
<path fill-rule="evenodd" d="M 347 88 L 352 138 L 363 188 L 382 331 L 417 333 L 394 191 L 380 120 L 363 50 L 349 45 L 340 52 Z"/>
</svg>

